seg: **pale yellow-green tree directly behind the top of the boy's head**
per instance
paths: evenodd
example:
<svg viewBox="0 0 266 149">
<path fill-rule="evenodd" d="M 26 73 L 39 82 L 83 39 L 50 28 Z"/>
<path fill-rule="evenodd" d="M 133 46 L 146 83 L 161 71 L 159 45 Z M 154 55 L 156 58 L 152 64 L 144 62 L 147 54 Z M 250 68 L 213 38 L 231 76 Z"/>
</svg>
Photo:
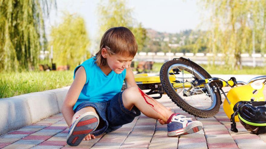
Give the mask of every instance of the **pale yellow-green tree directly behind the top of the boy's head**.
<svg viewBox="0 0 266 149">
<path fill-rule="evenodd" d="M 134 34 L 138 43 L 139 51 L 145 46 L 147 31 L 132 17 L 133 9 L 127 8 L 125 0 L 109 0 L 107 3 L 101 1 L 98 5 L 99 35 L 111 27 L 125 26 Z"/>
</svg>

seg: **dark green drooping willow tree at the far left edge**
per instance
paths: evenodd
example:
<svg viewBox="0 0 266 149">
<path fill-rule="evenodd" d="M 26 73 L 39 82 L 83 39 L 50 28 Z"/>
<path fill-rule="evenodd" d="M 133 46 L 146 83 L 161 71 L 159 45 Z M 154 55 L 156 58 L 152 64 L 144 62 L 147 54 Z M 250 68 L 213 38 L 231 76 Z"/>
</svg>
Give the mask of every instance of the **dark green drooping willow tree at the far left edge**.
<svg viewBox="0 0 266 149">
<path fill-rule="evenodd" d="M 46 44 L 44 15 L 55 1 L 0 0 L 0 72 L 31 70 Z"/>
</svg>

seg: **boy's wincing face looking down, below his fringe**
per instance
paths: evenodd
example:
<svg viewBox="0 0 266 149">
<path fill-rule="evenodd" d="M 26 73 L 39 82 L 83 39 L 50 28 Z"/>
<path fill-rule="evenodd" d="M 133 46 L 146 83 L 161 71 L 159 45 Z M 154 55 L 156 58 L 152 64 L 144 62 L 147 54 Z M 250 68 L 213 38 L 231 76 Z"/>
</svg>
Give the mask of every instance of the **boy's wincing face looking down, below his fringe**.
<svg viewBox="0 0 266 149">
<path fill-rule="evenodd" d="M 130 67 L 134 57 L 126 57 L 121 54 L 110 55 L 106 57 L 108 66 L 117 74 Z"/>
</svg>

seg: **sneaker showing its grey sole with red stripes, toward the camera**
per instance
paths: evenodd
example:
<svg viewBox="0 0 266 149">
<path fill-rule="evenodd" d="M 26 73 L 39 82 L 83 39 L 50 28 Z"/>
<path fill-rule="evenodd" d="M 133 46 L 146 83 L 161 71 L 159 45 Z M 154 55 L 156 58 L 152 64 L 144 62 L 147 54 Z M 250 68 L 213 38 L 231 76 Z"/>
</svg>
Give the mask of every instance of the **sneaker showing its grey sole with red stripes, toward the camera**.
<svg viewBox="0 0 266 149">
<path fill-rule="evenodd" d="M 69 128 L 66 143 L 70 146 L 77 146 L 93 132 L 99 125 L 99 116 L 94 112 L 86 112 L 77 117 Z"/>
</svg>

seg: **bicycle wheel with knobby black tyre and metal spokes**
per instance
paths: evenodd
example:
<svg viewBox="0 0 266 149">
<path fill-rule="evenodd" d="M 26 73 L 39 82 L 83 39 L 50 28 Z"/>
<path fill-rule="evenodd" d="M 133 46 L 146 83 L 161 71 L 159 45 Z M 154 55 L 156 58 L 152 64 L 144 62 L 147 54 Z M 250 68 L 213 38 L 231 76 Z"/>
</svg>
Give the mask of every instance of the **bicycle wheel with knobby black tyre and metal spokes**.
<svg viewBox="0 0 266 149">
<path fill-rule="evenodd" d="M 160 70 L 161 84 L 170 99 L 187 113 L 202 118 L 219 112 L 221 95 L 213 90 L 214 83 L 194 87 L 190 82 L 208 78 L 211 76 L 206 70 L 183 57 L 166 62 Z"/>
</svg>

